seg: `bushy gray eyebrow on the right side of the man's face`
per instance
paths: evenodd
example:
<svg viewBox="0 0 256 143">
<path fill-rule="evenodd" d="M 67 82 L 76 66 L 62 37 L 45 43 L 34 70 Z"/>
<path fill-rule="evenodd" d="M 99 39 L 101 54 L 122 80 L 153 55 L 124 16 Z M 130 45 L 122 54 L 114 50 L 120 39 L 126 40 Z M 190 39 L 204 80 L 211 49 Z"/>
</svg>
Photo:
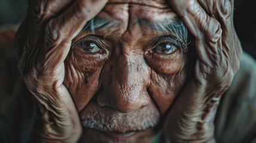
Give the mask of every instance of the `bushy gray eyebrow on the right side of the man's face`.
<svg viewBox="0 0 256 143">
<path fill-rule="evenodd" d="M 187 26 L 183 23 L 181 18 L 165 19 L 161 21 L 149 21 L 146 18 L 140 18 L 138 23 L 141 26 L 147 26 L 155 32 L 171 35 L 172 38 L 180 45 L 185 46 L 183 51 L 187 51 L 187 45 L 190 43 Z"/>
</svg>

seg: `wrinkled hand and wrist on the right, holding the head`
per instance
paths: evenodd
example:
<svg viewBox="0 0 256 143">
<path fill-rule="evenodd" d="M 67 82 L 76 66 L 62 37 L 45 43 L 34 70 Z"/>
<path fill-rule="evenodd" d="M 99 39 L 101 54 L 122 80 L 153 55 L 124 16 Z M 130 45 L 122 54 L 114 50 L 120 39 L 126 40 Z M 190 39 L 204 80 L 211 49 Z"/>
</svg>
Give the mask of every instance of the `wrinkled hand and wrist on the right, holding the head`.
<svg viewBox="0 0 256 143">
<path fill-rule="evenodd" d="M 171 142 L 215 142 L 214 118 L 232 83 L 242 48 L 233 27 L 233 0 L 168 0 L 195 36 L 195 75 L 168 114 Z"/>
</svg>

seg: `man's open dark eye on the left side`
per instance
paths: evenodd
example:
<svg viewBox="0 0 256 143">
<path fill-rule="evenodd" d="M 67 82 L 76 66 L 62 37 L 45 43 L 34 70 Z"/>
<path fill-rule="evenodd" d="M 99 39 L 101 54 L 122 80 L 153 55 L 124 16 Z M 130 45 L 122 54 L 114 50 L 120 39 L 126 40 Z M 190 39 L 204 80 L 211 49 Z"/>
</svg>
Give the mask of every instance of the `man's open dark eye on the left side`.
<svg viewBox="0 0 256 143">
<path fill-rule="evenodd" d="M 76 45 L 76 46 L 84 52 L 90 52 L 90 53 L 93 53 L 93 52 L 103 53 L 104 52 L 104 50 L 99 48 L 98 45 L 94 42 L 89 42 L 89 41 L 81 42 L 81 43 L 78 43 L 78 45 Z"/>
</svg>

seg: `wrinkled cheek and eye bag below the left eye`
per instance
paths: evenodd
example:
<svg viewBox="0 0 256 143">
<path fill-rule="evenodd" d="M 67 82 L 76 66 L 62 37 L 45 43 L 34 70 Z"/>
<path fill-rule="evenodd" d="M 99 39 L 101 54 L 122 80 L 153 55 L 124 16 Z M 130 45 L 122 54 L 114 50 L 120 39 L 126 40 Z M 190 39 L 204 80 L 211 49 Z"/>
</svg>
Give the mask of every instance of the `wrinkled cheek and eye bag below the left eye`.
<svg viewBox="0 0 256 143">
<path fill-rule="evenodd" d="M 98 90 L 98 79 L 107 55 L 89 55 L 72 49 L 65 61 L 64 85 L 81 111 Z"/>
</svg>

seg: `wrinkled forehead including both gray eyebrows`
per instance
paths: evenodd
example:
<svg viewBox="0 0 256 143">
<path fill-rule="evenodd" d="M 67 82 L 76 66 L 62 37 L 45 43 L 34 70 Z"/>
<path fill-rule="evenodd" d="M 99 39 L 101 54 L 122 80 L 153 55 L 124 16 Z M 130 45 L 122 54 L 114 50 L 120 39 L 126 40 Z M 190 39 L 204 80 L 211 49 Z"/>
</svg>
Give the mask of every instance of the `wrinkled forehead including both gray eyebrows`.
<svg viewBox="0 0 256 143">
<path fill-rule="evenodd" d="M 110 0 L 103 10 L 90 20 L 82 32 L 92 31 L 110 39 L 135 42 L 154 36 L 186 33 L 177 14 L 164 0 Z M 182 26 L 180 26 L 182 25 Z M 150 37 L 151 36 L 151 37 Z M 175 35 L 173 35 L 175 36 Z"/>
</svg>

